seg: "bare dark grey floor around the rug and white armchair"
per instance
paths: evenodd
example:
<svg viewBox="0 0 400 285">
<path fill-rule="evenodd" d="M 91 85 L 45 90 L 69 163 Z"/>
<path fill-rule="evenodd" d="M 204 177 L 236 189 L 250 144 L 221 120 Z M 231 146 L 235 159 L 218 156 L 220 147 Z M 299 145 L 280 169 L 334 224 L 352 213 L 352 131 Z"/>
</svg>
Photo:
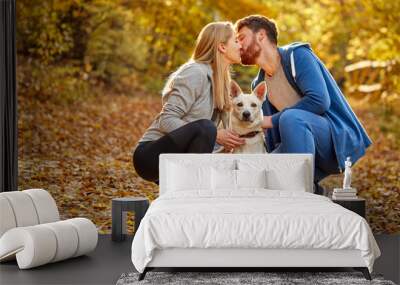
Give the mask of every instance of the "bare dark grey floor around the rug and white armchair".
<svg viewBox="0 0 400 285">
<path fill-rule="evenodd" d="M 375 238 L 382 257 L 376 260 L 374 273 L 381 273 L 385 279 L 399 284 L 400 235 L 377 235 Z M 19 270 L 15 261 L 1 263 L 0 284 L 115 284 L 122 273 L 135 271 L 131 244 L 132 236 L 123 242 L 112 242 L 111 236 L 99 235 L 96 250 L 86 256 L 28 270 Z"/>
</svg>

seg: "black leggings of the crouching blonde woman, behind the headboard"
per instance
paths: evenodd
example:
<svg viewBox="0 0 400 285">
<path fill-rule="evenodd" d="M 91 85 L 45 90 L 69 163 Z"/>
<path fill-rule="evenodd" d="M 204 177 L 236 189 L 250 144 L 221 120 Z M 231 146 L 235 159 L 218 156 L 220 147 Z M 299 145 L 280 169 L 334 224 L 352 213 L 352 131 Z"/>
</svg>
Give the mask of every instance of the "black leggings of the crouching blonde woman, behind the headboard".
<svg viewBox="0 0 400 285">
<path fill-rule="evenodd" d="M 139 143 L 133 153 L 133 166 L 140 177 L 158 184 L 161 153 L 211 153 L 216 138 L 217 128 L 211 120 L 187 123 L 158 140 Z"/>
</svg>

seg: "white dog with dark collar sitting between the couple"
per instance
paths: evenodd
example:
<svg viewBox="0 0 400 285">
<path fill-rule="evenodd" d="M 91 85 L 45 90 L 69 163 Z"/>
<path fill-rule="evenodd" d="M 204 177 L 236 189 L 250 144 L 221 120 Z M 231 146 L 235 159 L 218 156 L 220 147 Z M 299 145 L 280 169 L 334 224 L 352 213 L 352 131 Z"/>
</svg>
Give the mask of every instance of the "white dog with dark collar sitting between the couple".
<svg viewBox="0 0 400 285">
<path fill-rule="evenodd" d="M 232 111 L 223 114 L 223 121 L 228 129 L 233 130 L 246 143 L 233 149 L 233 153 L 267 153 L 265 136 L 261 127 L 263 113 L 261 105 L 267 94 L 267 84 L 260 82 L 251 94 L 244 94 L 239 85 L 232 80 L 231 98 Z"/>
</svg>

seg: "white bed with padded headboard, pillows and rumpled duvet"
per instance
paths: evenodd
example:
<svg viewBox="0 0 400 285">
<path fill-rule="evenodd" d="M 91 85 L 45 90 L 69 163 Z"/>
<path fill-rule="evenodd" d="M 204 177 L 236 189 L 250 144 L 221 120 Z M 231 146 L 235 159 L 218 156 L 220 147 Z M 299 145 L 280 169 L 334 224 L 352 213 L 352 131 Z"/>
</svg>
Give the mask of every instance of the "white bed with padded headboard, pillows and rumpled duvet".
<svg viewBox="0 0 400 285">
<path fill-rule="evenodd" d="M 367 221 L 313 194 L 313 173 L 309 154 L 161 154 L 132 242 L 139 280 L 159 267 L 352 267 L 370 280 Z"/>
</svg>

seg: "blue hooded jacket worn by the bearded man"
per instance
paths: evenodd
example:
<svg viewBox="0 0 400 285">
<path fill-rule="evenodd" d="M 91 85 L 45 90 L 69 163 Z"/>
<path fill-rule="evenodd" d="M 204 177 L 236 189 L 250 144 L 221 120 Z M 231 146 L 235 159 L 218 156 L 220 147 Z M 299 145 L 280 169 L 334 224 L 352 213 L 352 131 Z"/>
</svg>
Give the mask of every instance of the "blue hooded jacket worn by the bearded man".
<svg viewBox="0 0 400 285">
<path fill-rule="evenodd" d="M 278 47 L 278 51 L 286 78 L 302 98 L 295 105 L 278 111 L 267 96 L 262 110 L 264 116 L 272 115 L 273 125 L 273 128 L 265 131 L 267 151 L 272 152 L 281 141 L 280 115 L 287 109 L 302 109 L 328 119 L 339 165 L 338 172 L 342 172 L 346 157 L 349 156 L 354 164 L 371 145 L 370 138 L 336 81 L 308 43 L 295 42 Z M 260 69 L 251 84 L 252 89 L 263 81 L 264 77 L 265 71 Z"/>
</svg>

